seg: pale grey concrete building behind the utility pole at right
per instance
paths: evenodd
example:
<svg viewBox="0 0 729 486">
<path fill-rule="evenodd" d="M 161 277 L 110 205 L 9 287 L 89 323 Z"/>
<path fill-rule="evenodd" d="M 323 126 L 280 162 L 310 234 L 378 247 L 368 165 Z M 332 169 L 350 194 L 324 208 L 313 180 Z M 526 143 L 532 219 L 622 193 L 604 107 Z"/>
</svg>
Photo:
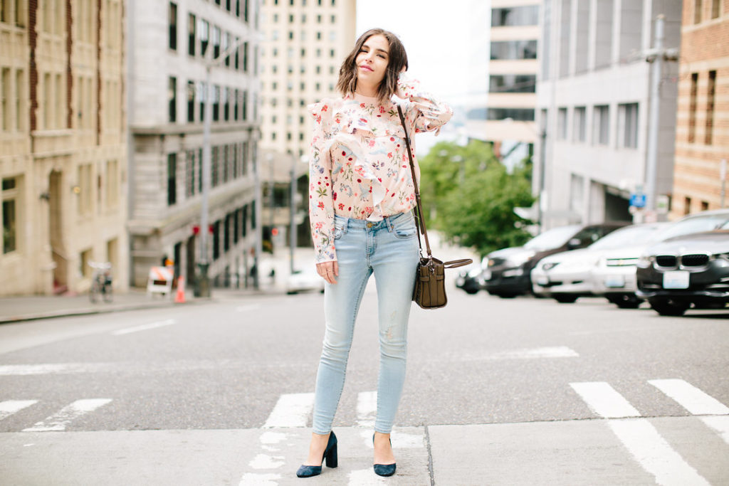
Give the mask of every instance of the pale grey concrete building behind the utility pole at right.
<svg viewBox="0 0 729 486">
<path fill-rule="evenodd" d="M 665 15 L 665 47 L 679 47 L 679 0 L 545 0 L 537 78 L 534 192 L 543 227 L 631 220 L 646 184 L 650 74 L 645 52 Z M 677 63 L 663 63 L 656 194 L 673 186 Z M 543 154 L 543 157 L 542 157 Z"/>
</svg>

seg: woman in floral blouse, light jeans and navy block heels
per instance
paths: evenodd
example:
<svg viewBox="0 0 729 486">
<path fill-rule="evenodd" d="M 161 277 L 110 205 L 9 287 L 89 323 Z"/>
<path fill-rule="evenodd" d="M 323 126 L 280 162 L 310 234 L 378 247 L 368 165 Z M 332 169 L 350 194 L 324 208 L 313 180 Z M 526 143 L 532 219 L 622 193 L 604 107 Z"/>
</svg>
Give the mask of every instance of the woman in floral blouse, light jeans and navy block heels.
<svg viewBox="0 0 729 486">
<path fill-rule="evenodd" d="M 315 119 L 309 215 L 316 271 L 326 281 L 326 330 L 316 375 L 313 434 L 298 477 L 320 474 L 324 458 L 327 466 L 337 466 L 332 421 L 344 385 L 354 321 L 373 273 L 380 328 L 374 469 L 380 476 L 395 472 L 389 438 L 405 381 L 408 315 L 419 251 L 405 131 L 391 97 L 399 98 L 409 134 L 437 130 L 452 114 L 450 107 L 405 77 L 407 68 L 408 56 L 399 39 L 372 29 L 357 39 L 342 63 L 337 87 L 343 98 L 309 106 Z M 419 174 L 417 167 L 416 171 Z"/>
</svg>

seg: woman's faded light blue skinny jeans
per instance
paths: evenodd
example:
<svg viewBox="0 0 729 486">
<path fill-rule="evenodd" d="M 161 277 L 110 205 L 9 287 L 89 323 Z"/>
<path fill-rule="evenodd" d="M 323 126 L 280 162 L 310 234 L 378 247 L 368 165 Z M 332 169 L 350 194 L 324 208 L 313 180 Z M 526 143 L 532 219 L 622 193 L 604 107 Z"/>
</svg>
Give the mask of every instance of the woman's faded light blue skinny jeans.
<svg viewBox="0 0 729 486">
<path fill-rule="evenodd" d="M 324 287 L 324 345 L 316 375 L 313 431 L 329 434 L 344 386 L 354 321 L 375 275 L 380 335 L 375 431 L 389 434 L 405 383 L 408 316 L 419 258 L 412 213 L 379 222 L 335 216 L 337 283 Z"/>
</svg>

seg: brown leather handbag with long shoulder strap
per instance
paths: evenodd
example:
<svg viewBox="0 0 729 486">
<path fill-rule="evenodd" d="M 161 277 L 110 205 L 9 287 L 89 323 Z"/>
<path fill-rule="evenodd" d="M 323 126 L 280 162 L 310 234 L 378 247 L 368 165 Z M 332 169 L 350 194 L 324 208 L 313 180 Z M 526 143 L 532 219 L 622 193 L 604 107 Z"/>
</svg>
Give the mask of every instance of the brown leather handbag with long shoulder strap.
<svg viewBox="0 0 729 486">
<path fill-rule="evenodd" d="M 405 130 L 405 147 L 408 149 L 408 157 L 410 158 L 410 173 L 413 176 L 413 187 L 415 187 L 415 197 L 417 205 L 416 226 L 418 227 L 418 246 L 420 246 L 420 260 L 418 261 L 418 270 L 415 275 L 415 288 L 413 289 L 413 302 L 424 309 L 439 309 L 445 307 L 448 303 L 448 297 L 445 296 L 445 269 L 463 267 L 464 265 L 473 263 L 470 258 L 460 260 L 451 260 L 450 262 L 442 262 L 435 258 L 430 251 L 430 243 L 428 241 L 428 231 L 425 228 L 425 220 L 423 219 L 423 208 L 420 202 L 420 190 L 418 189 L 418 179 L 415 175 L 415 165 L 413 165 L 413 153 L 410 152 L 410 136 L 408 136 L 408 128 L 405 126 L 405 117 L 402 115 L 402 109 L 397 106 L 397 114 L 402 123 L 402 129 Z M 423 256 L 423 245 L 420 240 L 420 234 L 423 233 L 425 238 L 425 247 L 428 256 Z"/>
</svg>

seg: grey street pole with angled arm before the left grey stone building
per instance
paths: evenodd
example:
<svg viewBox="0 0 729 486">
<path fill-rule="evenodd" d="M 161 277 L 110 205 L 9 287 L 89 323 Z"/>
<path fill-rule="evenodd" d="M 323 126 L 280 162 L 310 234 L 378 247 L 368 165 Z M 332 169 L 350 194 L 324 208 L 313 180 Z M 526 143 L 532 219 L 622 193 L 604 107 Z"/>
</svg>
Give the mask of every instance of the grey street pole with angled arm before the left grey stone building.
<svg viewBox="0 0 729 486">
<path fill-rule="evenodd" d="M 210 101 L 213 97 L 213 85 L 211 83 L 211 71 L 231 55 L 238 47 L 245 42 L 245 38 L 238 39 L 233 45 L 228 47 L 224 52 L 220 53 L 216 58 L 213 57 L 213 46 L 208 45 L 208 52 L 205 56 L 205 86 L 203 87 L 203 202 L 200 209 L 200 260 L 198 261 L 198 269 L 200 270 L 200 278 L 198 279 L 198 297 L 210 297 L 210 278 L 208 277 L 208 200 L 210 195 L 210 126 L 213 117 L 213 106 Z"/>
</svg>

